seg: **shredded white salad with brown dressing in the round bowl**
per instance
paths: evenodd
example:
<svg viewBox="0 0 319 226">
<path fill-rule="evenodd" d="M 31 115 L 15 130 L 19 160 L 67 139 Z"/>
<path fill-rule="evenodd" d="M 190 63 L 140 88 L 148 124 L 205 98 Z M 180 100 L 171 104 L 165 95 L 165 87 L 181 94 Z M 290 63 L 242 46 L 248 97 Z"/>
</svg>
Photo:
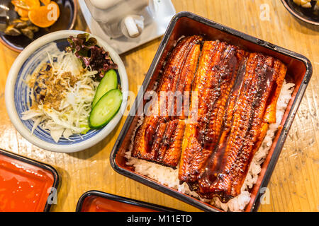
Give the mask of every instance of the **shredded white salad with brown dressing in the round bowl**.
<svg viewBox="0 0 319 226">
<path fill-rule="evenodd" d="M 98 71 L 92 71 L 90 67 L 84 69 L 82 61 L 72 52 L 63 52 L 58 56 L 48 54 L 48 58 L 50 72 L 45 77 L 45 97 L 40 101 L 35 98 L 34 92 L 37 90 L 34 90 L 34 84 L 41 83 L 37 81 L 41 80 L 40 73 L 30 75 L 27 83 L 31 103 L 29 109 L 22 113 L 22 119 L 33 120 L 31 133 L 41 126 L 56 143 L 61 137 L 72 141 L 70 136 L 81 136 L 90 129 L 88 118 L 91 103 L 99 85 L 93 78 Z"/>
</svg>

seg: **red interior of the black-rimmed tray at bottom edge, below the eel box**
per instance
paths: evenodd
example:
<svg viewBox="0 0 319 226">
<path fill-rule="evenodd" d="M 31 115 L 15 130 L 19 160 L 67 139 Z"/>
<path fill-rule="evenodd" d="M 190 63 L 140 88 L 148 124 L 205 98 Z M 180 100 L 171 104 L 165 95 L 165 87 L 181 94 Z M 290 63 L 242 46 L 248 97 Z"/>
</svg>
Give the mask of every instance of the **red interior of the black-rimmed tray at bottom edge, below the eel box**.
<svg viewBox="0 0 319 226">
<path fill-rule="evenodd" d="M 157 212 L 157 210 L 99 196 L 87 196 L 82 203 L 81 212 Z"/>
</svg>

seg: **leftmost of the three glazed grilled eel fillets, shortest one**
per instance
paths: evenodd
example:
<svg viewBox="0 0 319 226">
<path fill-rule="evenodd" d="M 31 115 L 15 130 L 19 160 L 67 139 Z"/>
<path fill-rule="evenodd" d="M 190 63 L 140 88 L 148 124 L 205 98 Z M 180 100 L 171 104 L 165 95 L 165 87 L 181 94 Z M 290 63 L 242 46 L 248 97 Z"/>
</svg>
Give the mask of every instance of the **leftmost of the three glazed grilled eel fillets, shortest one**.
<svg viewBox="0 0 319 226">
<path fill-rule="evenodd" d="M 132 156 L 177 167 L 181 155 L 186 111 L 178 97 L 191 90 L 196 71 L 202 37 L 194 35 L 180 40 L 167 60 L 156 90 L 157 97 L 150 104 L 149 114 L 138 128 L 133 143 Z M 177 114 L 179 113 L 179 114 Z"/>
</svg>

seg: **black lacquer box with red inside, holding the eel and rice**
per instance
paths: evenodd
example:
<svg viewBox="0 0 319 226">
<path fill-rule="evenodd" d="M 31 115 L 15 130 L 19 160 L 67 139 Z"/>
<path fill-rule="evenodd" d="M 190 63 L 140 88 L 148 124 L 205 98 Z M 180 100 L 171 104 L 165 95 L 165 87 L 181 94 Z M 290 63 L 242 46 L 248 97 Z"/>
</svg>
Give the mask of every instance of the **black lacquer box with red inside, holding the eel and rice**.
<svg viewBox="0 0 319 226">
<path fill-rule="evenodd" d="M 289 79 L 295 83 L 291 100 L 286 108 L 286 112 L 284 113 L 279 129 L 276 132 L 272 147 L 262 164 L 262 171 L 259 173 L 257 183 L 254 184 L 250 190 L 251 199 L 250 203 L 247 204 L 245 211 L 257 211 L 260 197 L 262 196 L 261 188 L 267 186 L 269 179 L 272 176 L 272 172 L 279 158 L 284 142 L 286 141 L 286 136 L 291 127 L 293 118 L 296 115 L 298 106 L 301 103 L 303 94 L 305 93 L 306 87 L 310 81 L 312 66 L 310 61 L 301 54 L 297 54 L 288 49 L 278 47 L 275 44 L 259 40 L 257 37 L 252 37 L 232 28 L 225 27 L 219 23 L 197 16 L 194 13 L 181 12 L 177 13 L 177 15 L 172 18 L 171 23 L 162 38 L 162 42 L 159 44 L 159 48 L 157 49 L 157 53 L 155 54 L 155 58 L 152 61 L 150 69 L 145 76 L 145 80 L 142 83 L 144 90 L 141 89 L 138 93 L 138 97 L 135 99 L 135 103 L 133 105 L 134 107 L 131 109 L 130 115 L 127 117 L 121 133 L 113 147 L 110 157 L 111 165 L 116 172 L 150 186 L 153 189 L 162 191 L 164 194 L 178 198 L 179 200 L 189 203 L 196 208 L 206 211 L 222 211 L 208 203 L 204 203 L 196 198 L 182 194 L 169 186 L 160 184 L 154 179 L 150 179 L 149 177 L 145 177 L 142 174 L 134 172 L 125 164 L 125 152 L 128 150 L 128 146 L 131 142 L 130 138 L 138 124 L 137 110 L 138 107 L 145 104 L 143 100 L 144 93 L 154 87 L 156 78 L 159 76 L 167 54 L 169 54 L 171 49 L 174 47 L 174 44 L 176 44 L 179 37 L 183 35 L 203 35 L 203 37 L 210 40 L 225 41 L 250 52 L 261 52 L 263 54 L 276 57 L 286 64 L 288 68 L 286 77 L 289 76 Z"/>
</svg>

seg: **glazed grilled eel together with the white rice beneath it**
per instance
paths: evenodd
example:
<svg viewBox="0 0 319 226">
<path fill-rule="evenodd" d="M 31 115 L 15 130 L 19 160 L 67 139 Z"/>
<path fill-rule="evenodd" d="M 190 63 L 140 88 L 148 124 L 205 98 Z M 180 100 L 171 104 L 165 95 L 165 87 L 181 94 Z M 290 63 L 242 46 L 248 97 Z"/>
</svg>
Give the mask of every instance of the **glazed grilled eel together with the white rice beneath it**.
<svg viewBox="0 0 319 226">
<path fill-rule="evenodd" d="M 128 164 L 216 205 L 235 201 L 247 194 L 255 154 L 267 154 L 265 137 L 273 138 L 291 97 L 285 76 L 286 66 L 274 57 L 198 35 L 182 38 L 164 66 L 152 114 L 135 133 Z M 286 99 L 279 98 L 281 88 Z M 161 98 L 163 91 L 196 93 L 189 95 L 189 112 L 186 105 L 176 107 L 176 98 Z M 172 177 L 164 179 L 164 171 Z"/>
</svg>

